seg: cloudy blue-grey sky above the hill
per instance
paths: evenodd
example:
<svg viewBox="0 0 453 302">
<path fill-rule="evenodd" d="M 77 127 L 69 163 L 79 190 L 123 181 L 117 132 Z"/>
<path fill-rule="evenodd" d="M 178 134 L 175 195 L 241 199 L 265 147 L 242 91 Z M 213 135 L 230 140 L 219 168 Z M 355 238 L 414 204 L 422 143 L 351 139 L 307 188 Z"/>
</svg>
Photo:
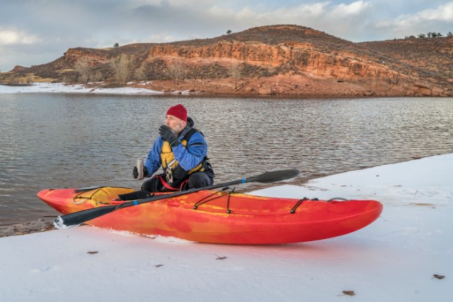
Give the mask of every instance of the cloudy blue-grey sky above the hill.
<svg viewBox="0 0 453 302">
<path fill-rule="evenodd" d="M 453 32 L 442 0 L 0 0 L 0 71 L 52 62 L 72 47 L 218 37 L 303 25 L 352 42 Z"/>
</svg>

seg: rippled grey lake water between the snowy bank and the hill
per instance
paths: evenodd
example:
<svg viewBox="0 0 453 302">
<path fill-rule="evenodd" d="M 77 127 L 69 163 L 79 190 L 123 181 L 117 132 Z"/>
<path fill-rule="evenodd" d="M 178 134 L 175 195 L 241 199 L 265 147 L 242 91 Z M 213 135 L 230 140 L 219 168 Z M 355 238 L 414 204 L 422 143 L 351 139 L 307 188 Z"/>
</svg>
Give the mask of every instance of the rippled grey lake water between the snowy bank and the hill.
<svg viewBox="0 0 453 302">
<path fill-rule="evenodd" d="M 55 216 L 36 197 L 45 188 L 139 188 L 132 168 L 177 103 L 205 134 L 217 183 L 297 168 L 300 184 L 453 151 L 452 98 L 0 94 L 0 225 Z"/>
</svg>

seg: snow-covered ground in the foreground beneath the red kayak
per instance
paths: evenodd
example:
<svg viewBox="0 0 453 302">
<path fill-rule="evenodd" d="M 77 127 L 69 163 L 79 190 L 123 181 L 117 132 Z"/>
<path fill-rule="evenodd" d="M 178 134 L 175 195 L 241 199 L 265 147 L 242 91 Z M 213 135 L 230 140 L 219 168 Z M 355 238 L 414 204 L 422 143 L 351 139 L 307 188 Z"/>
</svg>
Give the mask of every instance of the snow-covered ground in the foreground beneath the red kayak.
<svg viewBox="0 0 453 302">
<path fill-rule="evenodd" d="M 0 238 L 0 301 L 436 301 L 453 298 L 453 153 L 253 192 L 377 199 L 338 238 L 210 245 L 91 226 Z"/>
</svg>

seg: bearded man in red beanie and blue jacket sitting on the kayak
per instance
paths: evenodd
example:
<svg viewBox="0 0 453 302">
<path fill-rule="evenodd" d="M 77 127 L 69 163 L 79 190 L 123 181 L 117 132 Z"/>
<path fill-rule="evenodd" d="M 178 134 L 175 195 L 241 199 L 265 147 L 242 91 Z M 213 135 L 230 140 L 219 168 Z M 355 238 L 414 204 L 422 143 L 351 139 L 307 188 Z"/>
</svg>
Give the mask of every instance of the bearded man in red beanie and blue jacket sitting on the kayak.
<svg viewBox="0 0 453 302">
<path fill-rule="evenodd" d="M 164 173 L 146 180 L 142 190 L 171 192 L 212 185 L 214 171 L 207 161 L 205 137 L 193 125 L 183 105 L 168 109 L 165 124 L 159 128 L 161 135 L 154 141 L 143 168 L 145 177 L 153 175 L 160 166 Z M 133 175 L 137 178 L 137 167 Z"/>
</svg>

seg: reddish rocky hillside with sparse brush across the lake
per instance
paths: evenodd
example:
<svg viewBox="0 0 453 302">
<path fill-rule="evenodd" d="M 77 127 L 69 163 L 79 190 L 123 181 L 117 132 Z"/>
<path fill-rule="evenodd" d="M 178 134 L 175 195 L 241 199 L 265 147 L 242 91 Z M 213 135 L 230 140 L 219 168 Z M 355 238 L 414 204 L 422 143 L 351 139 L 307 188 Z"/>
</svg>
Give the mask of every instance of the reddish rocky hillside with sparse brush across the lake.
<svg viewBox="0 0 453 302">
<path fill-rule="evenodd" d="M 136 80 L 159 91 L 239 95 L 451 96 L 452 42 L 354 43 L 303 26 L 270 25 L 209 39 L 71 48 L 47 64 L 16 66 L 0 81 Z"/>
</svg>

